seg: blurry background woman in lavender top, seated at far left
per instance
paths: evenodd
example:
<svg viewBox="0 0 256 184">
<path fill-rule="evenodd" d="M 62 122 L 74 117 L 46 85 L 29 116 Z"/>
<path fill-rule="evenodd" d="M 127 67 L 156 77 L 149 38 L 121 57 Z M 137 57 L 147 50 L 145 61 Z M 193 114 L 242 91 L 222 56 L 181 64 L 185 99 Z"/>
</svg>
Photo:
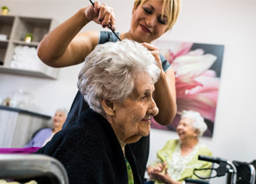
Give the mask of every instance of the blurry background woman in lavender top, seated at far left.
<svg viewBox="0 0 256 184">
<path fill-rule="evenodd" d="M 54 136 L 55 133 L 62 129 L 62 125 L 65 123 L 67 118 L 67 110 L 65 108 L 58 109 L 55 112 L 55 115 L 52 119 L 53 121 L 53 128 L 45 128 L 36 132 L 35 136 L 26 144 L 24 147 L 42 147 L 51 138 Z"/>
</svg>

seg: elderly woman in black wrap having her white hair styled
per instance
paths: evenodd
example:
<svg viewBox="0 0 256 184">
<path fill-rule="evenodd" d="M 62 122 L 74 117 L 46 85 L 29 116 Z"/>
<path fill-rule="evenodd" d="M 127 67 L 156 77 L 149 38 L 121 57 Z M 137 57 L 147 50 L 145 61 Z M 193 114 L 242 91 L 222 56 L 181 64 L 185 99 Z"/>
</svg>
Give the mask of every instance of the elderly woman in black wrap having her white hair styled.
<svg viewBox="0 0 256 184">
<path fill-rule="evenodd" d="M 158 55 L 158 54 L 157 54 Z M 107 42 L 86 57 L 78 88 L 90 109 L 37 153 L 54 156 L 70 183 L 143 183 L 129 143 L 150 133 L 160 68 L 135 41 Z"/>
</svg>

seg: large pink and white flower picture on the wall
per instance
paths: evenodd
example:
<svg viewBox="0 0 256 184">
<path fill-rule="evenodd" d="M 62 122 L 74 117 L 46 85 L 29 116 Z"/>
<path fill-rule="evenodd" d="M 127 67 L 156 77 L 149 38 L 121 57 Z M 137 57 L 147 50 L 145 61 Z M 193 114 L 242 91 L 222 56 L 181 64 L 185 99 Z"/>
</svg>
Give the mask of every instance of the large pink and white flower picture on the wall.
<svg viewBox="0 0 256 184">
<path fill-rule="evenodd" d="M 154 41 L 176 76 L 177 114 L 168 126 L 152 122 L 152 128 L 176 130 L 183 110 L 198 111 L 208 124 L 204 136 L 212 136 L 221 80 L 223 45 L 181 41 Z"/>
</svg>

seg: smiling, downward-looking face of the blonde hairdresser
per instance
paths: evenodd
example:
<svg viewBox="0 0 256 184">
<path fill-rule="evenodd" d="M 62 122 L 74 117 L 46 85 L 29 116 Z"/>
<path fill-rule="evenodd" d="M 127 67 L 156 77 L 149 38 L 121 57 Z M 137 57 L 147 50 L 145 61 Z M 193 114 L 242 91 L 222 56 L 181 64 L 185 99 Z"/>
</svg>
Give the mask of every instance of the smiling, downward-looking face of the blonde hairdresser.
<svg viewBox="0 0 256 184">
<path fill-rule="evenodd" d="M 163 0 L 149 0 L 132 11 L 130 34 L 133 40 L 148 42 L 156 40 L 167 28 L 167 14 L 163 14 Z"/>
</svg>

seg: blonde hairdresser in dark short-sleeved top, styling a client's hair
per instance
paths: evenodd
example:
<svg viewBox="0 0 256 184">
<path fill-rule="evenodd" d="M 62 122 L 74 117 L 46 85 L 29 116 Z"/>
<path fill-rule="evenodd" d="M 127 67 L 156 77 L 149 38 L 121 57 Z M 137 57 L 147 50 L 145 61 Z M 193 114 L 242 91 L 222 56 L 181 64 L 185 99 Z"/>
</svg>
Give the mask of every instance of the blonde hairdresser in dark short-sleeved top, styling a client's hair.
<svg viewBox="0 0 256 184">
<path fill-rule="evenodd" d="M 141 42 L 148 48 L 161 66 L 160 79 L 155 84 L 154 99 L 159 108 L 155 119 L 159 124 L 170 124 L 176 115 L 175 76 L 170 64 L 159 55 L 157 48 L 150 44 L 170 30 L 176 22 L 180 9 L 180 0 L 135 0 L 132 9 L 131 29 L 118 33 L 121 40 L 127 38 Z M 83 62 L 88 54 L 98 45 L 107 41 L 118 41 L 112 31 L 80 32 L 87 23 L 95 22 L 103 28 L 109 24 L 115 30 L 116 22 L 113 10 L 105 3 L 94 2 L 80 9 L 74 16 L 61 23 L 41 41 L 38 56 L 50 67 L 68 67 Z M 145 60 L 146 62 L 146 60 Z M 83 96 L 77 92 L 67 116 L 65 127 L 79 117 L 80 112 L 88 108 Z M 131 144 L 131 149 L 141 166 L 144 176 L 149 155 L 149 136 L 138 143 Z"/>
</svg>

